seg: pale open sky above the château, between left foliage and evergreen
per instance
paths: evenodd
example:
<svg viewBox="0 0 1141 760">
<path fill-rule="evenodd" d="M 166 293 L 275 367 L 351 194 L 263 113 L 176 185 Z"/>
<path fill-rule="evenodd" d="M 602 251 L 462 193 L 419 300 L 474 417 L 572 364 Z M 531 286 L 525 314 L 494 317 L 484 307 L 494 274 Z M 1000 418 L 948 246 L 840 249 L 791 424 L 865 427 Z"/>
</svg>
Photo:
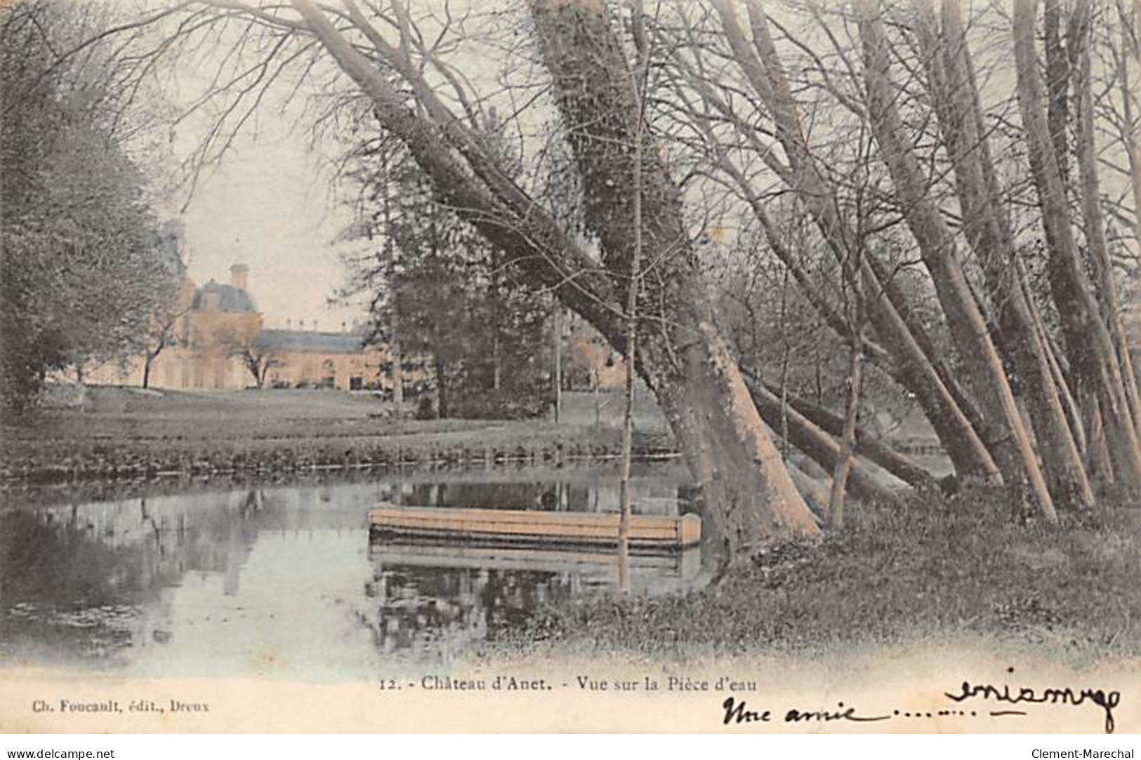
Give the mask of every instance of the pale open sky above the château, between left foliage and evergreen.
<svg viewBox="0 0 1141 760">
<path fill-rule="evenodd" d="M 170 31 L 162 25 L 153 30 L 152 43 Z M 238 31 L 226 29 L 222 37 Z M 221 57 L 226 46 L 224 40 L 199 55 L 164 59 L 159 97 L 171 115 L 184 118 L 175 124 L 160 122 L 152 137 L 164 144 L 162 152 L 171 167 L 201 145 L 225 105 L 211 100 L 186 115 L 216 76 L 224 81 L 240 68 L 238 63 Z M 283 94 L 294 81 L 289 75 L 272 80 L 221 162 L 203 169 L 185 210 L 178 209 L 186 201 L 185 191 L 163 207 L 183 226 L 183 256 L 196 284 L 229 282 L 230 266 L 244 264 L 248 290 L 267 328 L 284 328 L 286 321 L 297 328 L 304 321 L 306 329 L 316 323 L 319 330 L 339 331 L 342 322 L 351 325 L 366 316 L 363 308 L 329 304 L 346 275 L 341 246 L 333 241 L 351 221 L 351 215 L 335 201 L 330 167 L 330 156 L 343 146 L 310 148 L 311 120 L 302 112 L 305 98 L 284 105 Z M 178 178 L 185 180 L 186 175 Z"/>
</svg>

